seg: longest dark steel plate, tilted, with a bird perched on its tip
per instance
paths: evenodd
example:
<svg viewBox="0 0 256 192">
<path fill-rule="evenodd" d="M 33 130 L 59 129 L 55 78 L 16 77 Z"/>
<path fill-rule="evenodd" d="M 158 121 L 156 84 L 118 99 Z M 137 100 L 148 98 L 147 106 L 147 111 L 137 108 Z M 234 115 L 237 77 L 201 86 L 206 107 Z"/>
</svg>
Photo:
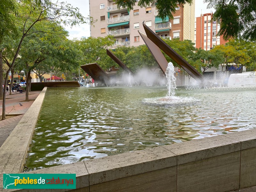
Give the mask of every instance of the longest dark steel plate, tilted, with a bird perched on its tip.
<svg viewBox="0 0 256 192">
<path fill-rule="evenodd" d="M 195 68 L 193 68 L 186 60 L 176 53 L 169 45 L 167 45 L 159 36 L 157 36 L 145 23 L 142 24 L 148 38 L 172 58 L 181 68 L 196 80 L 202 80 L 203 76 Z"/>
</svg>

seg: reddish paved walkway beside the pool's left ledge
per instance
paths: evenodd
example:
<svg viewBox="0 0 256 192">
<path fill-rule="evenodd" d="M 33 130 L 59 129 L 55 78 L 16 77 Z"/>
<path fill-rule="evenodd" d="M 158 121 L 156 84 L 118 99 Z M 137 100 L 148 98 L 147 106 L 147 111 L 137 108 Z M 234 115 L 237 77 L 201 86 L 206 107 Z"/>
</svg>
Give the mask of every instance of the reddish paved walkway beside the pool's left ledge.
<svg viewBox="0 0 256 192">
<path fill-rule="evenodd" d="M 28 108 L 32 105 L 41 91 L 32 91 L 28 98 L 30 101 L 25 102 L 26 93 L 15 93 L 12 95 L 7 94 L 5 100 L 5 114 L 11 116 L 8 119 L 0 121 L 0 147 L 10 135 L 12 130 L 20 122 L 20 119 L 27 112 Z M 20 106 L 20 103 L 23 106 Z M 0 114 L 2 114 L 3 100 L 0 100 Z M 1 117 L 2 118 L 2 117 Z"/>
</svg>

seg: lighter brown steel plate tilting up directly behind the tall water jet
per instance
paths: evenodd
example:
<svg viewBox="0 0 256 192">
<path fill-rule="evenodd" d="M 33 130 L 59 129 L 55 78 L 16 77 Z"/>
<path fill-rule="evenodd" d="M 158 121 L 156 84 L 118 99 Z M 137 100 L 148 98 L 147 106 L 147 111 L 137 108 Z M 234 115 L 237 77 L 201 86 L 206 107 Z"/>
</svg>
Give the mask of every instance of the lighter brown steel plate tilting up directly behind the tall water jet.
<svg viewBox="0 0 256 192">
<path fill-rule="evenodd" d="M 141 31 L 138 31 L 140 36 L 142 37 L 143 41 L 145 42 L 145 44 L 147 45 L 149 51 L 151 52 L 151 54 L 153 55 L 153 57 L 155 58 L 158 66 L 160 67 L 160 69 L 163 71 L 163 73 L 165 74 L 167 66 L 168 66 L 168 61 L 165 59 L 163 53 L 161 52 L 161 50 L 156 46 L 156 44 L 154 44 L 145 33 L 142 33 Z"/>
</svg>

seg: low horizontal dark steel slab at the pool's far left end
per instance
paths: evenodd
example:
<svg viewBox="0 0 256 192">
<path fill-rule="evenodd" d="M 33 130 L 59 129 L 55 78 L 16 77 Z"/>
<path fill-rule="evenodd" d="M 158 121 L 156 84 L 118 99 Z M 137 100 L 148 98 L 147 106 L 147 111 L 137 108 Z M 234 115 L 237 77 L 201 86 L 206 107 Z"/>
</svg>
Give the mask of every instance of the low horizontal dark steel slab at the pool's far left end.
<svg viewBox="0 0 256 192">
<path fill-rule="evenodd" d="M 31 91 L 42 91 L 44 87 L 80 87 L 77 81 L 51 81 L 31 83 Z"/>
</svg>

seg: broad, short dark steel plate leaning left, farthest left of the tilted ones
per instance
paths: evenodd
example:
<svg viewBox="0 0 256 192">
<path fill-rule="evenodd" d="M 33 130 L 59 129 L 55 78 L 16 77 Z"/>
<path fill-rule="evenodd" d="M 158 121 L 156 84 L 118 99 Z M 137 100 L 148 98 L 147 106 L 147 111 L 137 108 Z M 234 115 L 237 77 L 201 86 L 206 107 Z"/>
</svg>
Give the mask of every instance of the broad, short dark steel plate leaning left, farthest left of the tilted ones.
<svg viewBox="0 0 256 192">
<path fill-rule="evenodd" d="M 109 76 L 97 63 L 82 65 L 81 68 L 94 79 L 95 83 L 99 85 L 108 84 Z"/>
</svg>

